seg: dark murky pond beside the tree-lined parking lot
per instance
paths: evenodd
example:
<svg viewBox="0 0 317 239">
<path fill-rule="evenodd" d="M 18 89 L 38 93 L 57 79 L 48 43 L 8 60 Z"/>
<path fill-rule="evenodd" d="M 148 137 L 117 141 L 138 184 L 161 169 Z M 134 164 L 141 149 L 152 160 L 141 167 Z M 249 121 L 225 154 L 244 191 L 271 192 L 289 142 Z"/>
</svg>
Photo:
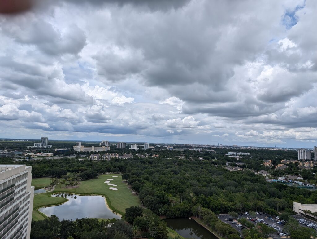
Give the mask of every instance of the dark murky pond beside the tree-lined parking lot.
<svg viewBox="0 0 317 239">
<path fill-rule="evenodd" d="M 185 238 L 217 239 L 217 236 L 189 218 L 167 218 L 167 226 Z"/>
</svg>

